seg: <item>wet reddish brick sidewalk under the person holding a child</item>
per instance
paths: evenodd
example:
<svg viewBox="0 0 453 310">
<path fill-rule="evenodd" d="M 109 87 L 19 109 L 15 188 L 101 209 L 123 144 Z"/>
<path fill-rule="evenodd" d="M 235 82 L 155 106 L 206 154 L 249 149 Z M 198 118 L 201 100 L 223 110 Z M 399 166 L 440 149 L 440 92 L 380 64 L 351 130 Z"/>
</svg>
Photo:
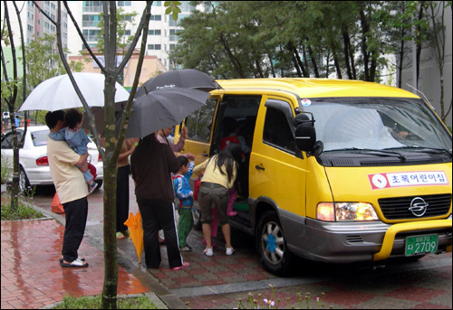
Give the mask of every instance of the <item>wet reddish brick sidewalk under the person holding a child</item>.
<svg viewBox="0 0 453 310">
<path fill-rule="evenodd" d="M 54 220 L 2 221 L 2 309 L 36 309 L 70 296 L 101 294 L 103 253 L 85 237 L 79 254 L 89 268 L 59 264 L 64 227 Z M 140 280 L 118 268 L 118 294 L 149 292 Z"/>
</svg>

